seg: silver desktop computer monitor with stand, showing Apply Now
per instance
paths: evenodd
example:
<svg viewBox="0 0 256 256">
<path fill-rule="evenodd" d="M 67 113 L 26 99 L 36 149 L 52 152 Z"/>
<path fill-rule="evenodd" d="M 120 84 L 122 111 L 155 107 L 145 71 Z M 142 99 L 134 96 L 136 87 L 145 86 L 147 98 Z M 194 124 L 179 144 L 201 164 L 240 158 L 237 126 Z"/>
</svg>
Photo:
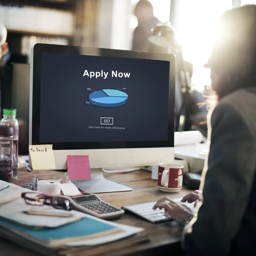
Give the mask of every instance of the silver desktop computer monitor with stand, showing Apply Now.
<svg viewBox="0 0 256 256">
<path fill-rule="evenodd" d="M 35 44 L 30 76 L 30 145 L 52 144 L 56 169 L 88 155 L 92 180 L 79 188 L 129 190 L 99 168 L 174 160 L 174 55 Z"/>
</svg>

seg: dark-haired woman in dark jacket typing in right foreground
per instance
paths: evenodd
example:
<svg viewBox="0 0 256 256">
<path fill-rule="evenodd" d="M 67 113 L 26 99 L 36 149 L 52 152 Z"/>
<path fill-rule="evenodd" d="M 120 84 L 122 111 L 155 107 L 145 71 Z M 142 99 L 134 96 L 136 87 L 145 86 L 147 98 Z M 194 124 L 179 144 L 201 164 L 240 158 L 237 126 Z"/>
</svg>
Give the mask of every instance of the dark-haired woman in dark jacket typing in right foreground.
<svg viewBox="0 0 256 256">
<path fill-rule="evenodd" d="M 256 255 L 256 6 L 225 12 L 219 26 L 222 35 L 206 65 L 218 104 L 211 116 L 203 200 L 192 209 L 162 198 L 154 209 L 165 208 L 185 225 L 189 256 Z M 182 201 L 197 203 L 199 195 Z"/>
</svg>

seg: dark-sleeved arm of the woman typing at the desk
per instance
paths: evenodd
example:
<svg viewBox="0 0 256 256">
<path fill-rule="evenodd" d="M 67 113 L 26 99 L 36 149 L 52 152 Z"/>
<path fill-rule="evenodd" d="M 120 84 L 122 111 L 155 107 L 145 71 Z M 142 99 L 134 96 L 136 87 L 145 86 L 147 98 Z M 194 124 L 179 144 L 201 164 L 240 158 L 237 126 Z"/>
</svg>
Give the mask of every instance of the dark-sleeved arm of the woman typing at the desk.
<svg viewBox="0 0 256 256">
<path fill-rule="evenodd" d="M 255 142 L 243 117 L 231 105 L 220 103 L 211 122 L 204 201 L 184 240 L 189 256 L 229 255 L 254 182 Z"/>
</svg>

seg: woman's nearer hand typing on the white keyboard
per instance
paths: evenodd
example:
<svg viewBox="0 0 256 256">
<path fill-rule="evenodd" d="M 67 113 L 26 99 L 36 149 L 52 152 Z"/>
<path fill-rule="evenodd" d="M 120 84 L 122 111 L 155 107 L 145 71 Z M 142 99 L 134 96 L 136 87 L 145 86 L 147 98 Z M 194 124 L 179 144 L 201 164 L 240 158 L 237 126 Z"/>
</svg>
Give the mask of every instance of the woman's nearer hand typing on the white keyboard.
<svg viewBox="0 0 256 256">
<path fill-rule="evenodd" d="M 153 206 L 153 209 L 164 208 L 166 212 L 178 223 L 184 225 L 186 219 L 194 215 L 195 208 L 187 203 L 176 202 L 168 197 L 161 198 Z"/>
</svg>

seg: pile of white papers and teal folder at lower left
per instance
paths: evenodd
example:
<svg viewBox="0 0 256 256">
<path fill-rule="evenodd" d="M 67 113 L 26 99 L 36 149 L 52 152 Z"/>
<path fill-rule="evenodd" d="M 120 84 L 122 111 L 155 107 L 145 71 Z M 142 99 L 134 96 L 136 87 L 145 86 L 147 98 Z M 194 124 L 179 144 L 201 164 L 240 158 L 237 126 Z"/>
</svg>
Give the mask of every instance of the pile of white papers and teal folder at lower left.
<svg viewBox="0 0 256 256">
<path fill-rule="evenodd" d="M 83 212 L 70 211 L 74 216 L 68 218 L 22 213 L 29 210 L 67 212 L 47 205 L 28 205 L 23 198 L 0 204 L 0 237 L 31 250 L 40 250 L 45 255 L 51 255 L 52 249 L 64 245 L 76 247 L 103 244 L 143 231 L 142 228 L 104 221 Z"/>
</svg>

